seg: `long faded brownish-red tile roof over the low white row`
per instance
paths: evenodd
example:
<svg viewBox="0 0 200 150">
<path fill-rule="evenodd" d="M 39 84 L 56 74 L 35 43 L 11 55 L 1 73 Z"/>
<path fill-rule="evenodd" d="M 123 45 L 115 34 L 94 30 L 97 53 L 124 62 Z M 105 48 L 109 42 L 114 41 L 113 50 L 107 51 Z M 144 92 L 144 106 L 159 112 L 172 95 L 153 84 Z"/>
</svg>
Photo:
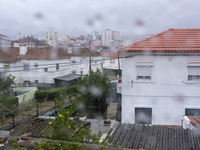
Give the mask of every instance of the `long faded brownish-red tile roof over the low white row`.
<svg viewBox="0 0 200 150">
<path fill-rule="evenodd" d="M 28 47 L 25 55 L 20 55 L 19 47 L 0 48 L 0 62 L 16 62 L 18 59 L 56 60 L 71 56 L 89 56 L 87 48 L 77 48 L 73 53 L 67 53 L 65 48 Z M 100 56 L 98 52 L 91 52 L 91 56 Z"/>
</svg>

